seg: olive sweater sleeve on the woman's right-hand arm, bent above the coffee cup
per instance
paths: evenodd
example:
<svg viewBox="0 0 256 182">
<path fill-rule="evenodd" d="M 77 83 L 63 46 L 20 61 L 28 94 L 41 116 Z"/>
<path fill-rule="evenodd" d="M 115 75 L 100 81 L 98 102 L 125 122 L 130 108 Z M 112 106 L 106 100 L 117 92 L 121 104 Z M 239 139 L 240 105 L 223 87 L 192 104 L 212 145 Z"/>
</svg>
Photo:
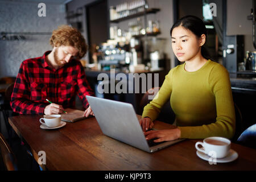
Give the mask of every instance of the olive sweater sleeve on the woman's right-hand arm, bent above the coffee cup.
<svg viewBox="0 0 256 182">
<path fill-rule="evenodd" d="M 216 122 L 202 126 L 179 127 L 180 138 L 204 139 L 207 137 L 232 138 L 236 129 L 236 114 L 228 71 L 218 64 L 209 75 L 209 86 L 216 102 Z"/>
</svg>

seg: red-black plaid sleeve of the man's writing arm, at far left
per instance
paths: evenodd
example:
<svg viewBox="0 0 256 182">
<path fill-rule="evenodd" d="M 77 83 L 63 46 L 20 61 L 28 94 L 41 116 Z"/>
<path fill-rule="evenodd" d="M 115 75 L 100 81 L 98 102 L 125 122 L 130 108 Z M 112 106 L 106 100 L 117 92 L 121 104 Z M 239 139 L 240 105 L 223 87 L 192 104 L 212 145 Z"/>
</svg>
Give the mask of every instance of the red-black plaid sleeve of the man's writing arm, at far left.
<svg viewBox="0 0 256 182">
<path fill-rule="evenodd" d="M 10 105 L 15 113 L 19 114 L 44 114 L 46 104 L 33 102 L 30 100 L 30 89 L 28 88 L 29 76 L 26 66 L 22 63 L 16 77 Z"/>
</svg>

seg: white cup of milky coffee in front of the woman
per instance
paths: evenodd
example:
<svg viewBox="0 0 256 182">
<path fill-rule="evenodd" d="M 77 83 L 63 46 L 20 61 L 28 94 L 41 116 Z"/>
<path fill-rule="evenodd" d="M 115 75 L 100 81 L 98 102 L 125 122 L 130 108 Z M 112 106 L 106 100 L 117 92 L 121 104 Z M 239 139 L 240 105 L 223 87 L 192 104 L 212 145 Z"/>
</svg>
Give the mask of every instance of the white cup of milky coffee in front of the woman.
<svg viewBox="0 0 256 182">
<path fill-rule="evenodd" d="M 223 137 L 208 137 L 203 140 L 203 142 L 196 142 L 196 149 L 209 156 L 214 155 L 214 157 L 220 159 L 225 158 L 229 154 L 230 150 L 230 140 Z M 201 145 L 204 147 L 199 148 Z"/>
</svg>

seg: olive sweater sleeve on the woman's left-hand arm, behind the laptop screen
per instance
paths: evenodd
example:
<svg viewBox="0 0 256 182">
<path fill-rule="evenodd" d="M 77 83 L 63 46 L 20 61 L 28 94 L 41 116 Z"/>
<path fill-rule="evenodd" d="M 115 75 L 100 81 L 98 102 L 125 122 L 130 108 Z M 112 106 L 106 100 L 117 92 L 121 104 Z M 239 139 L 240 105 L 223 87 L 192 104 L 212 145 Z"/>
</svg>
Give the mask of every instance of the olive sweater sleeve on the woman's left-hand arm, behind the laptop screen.
<svg viewBox="0 0 256 182">
<path fill-rule="evenodd" d="M 163 85 L 156 94 L 154 100 L 144 107 L 142 118 L 149 117 L 152 119 L 152 121 L 154 121 L 158 117 L 162 106 L 167 102 L 167 100 L 170 100 L 172 93 L 173 72 L 174 69 L 171 69 L 171 71 L 166 75 Z"/>
</svg>

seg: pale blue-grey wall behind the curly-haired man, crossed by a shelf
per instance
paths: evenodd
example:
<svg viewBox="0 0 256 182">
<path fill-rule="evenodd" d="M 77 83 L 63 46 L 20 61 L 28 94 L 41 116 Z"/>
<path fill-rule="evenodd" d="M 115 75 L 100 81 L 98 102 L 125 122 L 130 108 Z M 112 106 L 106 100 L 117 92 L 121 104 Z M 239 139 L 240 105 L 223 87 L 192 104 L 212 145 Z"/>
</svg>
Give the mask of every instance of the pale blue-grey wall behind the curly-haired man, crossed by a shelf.
<svg viewBox="0 0 256 182">
<path fill-rule="evenodd" d="M 64 4 L 47 1 L 46 17 L 38 16 L 38 4 L 0 1 L 0 32 L 49 32 L 49 35 L 24 35 L 26 40 L 0 40 L 0 77 L 16 76 L 23 60 L 51 50 L 51 32 L 61 24 L 67 24 Z"/>
</svg>

